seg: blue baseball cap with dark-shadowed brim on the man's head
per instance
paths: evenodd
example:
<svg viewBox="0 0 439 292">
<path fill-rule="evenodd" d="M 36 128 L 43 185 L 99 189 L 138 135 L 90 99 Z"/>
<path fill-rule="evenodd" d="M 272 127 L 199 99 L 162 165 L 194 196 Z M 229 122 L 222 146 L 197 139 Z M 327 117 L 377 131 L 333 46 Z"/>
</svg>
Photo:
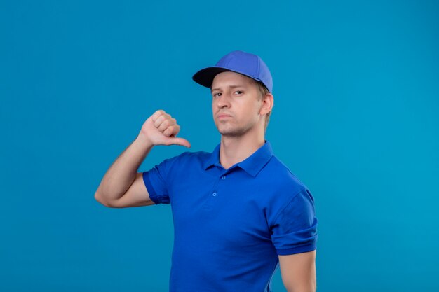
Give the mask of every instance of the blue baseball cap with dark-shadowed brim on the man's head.
<svg viewBox="0 0 439 292">
<path fill-rule="evenodd" d="M 266 66 L 261 57 L 245 53 L 241 50 L 234 50 L 222 57 L 213 67 L 207 67 L 196 72 L 192 79 L 206 88 L 211 88 L 213 78 L 221 72 L 232 71 L 248 76 L 255 81 L 262 82 L 272 92 L 273 78 L 269 67 Z"/>
</svg>

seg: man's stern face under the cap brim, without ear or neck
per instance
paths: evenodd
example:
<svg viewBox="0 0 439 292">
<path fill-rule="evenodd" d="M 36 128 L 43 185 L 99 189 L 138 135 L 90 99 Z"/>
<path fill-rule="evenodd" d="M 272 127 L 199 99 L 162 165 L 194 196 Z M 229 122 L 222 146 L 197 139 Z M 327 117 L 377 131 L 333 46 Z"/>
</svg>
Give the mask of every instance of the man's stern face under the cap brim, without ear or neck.
<svg viewBox="0 0 439 292">
<path fill-rule="evenodd" d="M 212 113 L 219 133 L 243 136 L 264 123 L 258 97 L 259 90 L 251 78 L 230 71 L 217 74 L 212 83 Z"/>
</svg>

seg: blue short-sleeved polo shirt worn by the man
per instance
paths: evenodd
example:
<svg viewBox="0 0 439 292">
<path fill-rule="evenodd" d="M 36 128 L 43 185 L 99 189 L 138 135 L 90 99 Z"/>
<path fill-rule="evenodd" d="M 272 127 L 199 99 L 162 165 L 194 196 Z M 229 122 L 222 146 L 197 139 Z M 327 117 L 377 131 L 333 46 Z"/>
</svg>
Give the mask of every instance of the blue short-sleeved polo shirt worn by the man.
<svg viewBox="0 0 439 292">
<path fill-rule="evenodd" d="M 219 147 L 143 172 L 151 200 L 173 212 L 170 292 L 269 292 L 278 255 L 316 249 L 313 196 L 269 141 L 229 169 Z"/>
</svg>

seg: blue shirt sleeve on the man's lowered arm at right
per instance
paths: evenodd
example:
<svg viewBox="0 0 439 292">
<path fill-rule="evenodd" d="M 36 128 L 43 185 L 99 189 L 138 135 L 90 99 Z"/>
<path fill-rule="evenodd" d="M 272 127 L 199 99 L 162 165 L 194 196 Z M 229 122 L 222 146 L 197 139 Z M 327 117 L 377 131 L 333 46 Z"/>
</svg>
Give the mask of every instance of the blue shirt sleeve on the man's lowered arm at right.
<svg viewBox="0 0 439 292">
<path fill-rule="evenodd" d="M 308 189 L 297 193 L 271 224 L 271 241 L 279 256 L 316 249 L 318 220 Z"/>
</svg>

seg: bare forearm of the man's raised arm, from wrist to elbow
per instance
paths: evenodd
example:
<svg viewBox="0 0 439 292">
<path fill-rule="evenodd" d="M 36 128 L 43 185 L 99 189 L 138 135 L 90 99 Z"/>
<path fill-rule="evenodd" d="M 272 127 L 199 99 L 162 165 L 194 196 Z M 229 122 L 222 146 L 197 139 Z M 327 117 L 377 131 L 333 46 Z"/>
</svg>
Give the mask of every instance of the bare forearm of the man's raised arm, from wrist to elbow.
<svg viewBox="0 0 439 292">
<path fill-rule="evenodd" d="M 109 167 L 96 190 L 95 197 L 104 202 L 112 202 L 121 198 L 130 188 L 137 169 L 152 147 L 153 144 L 140 133 Z"/>
</svg>

